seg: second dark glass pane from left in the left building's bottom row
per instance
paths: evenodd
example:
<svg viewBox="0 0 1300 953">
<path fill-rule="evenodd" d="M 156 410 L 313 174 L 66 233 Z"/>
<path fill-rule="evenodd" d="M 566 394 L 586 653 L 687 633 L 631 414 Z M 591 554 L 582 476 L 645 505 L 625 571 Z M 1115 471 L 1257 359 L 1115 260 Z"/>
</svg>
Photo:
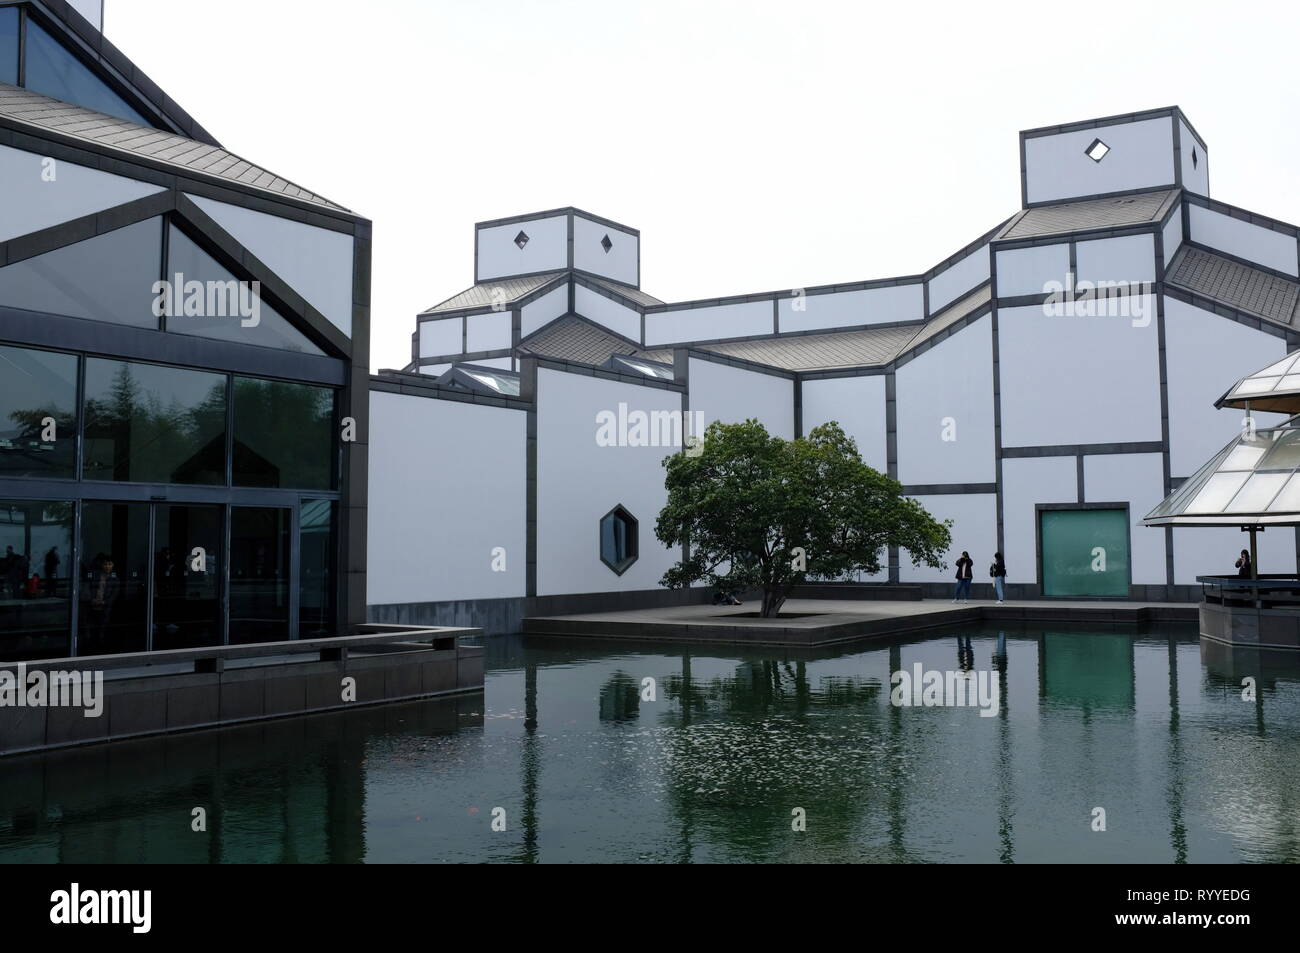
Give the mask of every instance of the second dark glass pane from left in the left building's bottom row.
<svg viewBox="0 0 1300 953">
<path fill-rule="evenodd" d="M 82 503 L 77 654 L 144 651 L 150 504 Z"/>
</svg>

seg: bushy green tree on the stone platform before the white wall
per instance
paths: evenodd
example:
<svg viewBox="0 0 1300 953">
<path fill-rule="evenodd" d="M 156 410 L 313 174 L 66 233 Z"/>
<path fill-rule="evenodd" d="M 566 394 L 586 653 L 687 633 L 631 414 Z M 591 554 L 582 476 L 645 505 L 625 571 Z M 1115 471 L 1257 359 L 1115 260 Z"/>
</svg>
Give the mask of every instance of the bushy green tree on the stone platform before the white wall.
<svg viewBox="0 0 1300 953">
<path fill-rule="evenodd" d="M 762 589 L 763 618 L 809 579 L 879 572 L 890 546 L 906 549 L 915 566 L 940 566 L 950 543 L 952 521 L 936 521 L 864 464 L 836 423 L 793 441 L 757 420 L 715 423 L 697 455 L 679 452 L 663 465 L 668 503 L 655 536 L 686 556 L 662 584 Z"/>
</svg>

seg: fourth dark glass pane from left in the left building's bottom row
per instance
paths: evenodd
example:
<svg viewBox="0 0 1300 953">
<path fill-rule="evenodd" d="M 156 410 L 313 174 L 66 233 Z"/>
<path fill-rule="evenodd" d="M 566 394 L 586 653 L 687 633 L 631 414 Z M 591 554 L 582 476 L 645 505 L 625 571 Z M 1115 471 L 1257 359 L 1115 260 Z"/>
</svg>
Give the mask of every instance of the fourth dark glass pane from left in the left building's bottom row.
<svg viewBox="0 0 1300 953">
<path fill-rule="evenodd" d="M 289 638 L 290 511 L 230 511 L 230 644 Z"/>
</svg>

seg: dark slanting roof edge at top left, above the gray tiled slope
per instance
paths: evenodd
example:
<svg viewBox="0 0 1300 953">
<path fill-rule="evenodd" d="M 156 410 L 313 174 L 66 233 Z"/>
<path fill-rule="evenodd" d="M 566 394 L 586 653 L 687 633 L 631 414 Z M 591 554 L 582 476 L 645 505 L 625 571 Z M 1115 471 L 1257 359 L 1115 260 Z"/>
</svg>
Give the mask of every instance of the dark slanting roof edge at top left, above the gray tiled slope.
<svg viewBox="0 0 1300 953">
<path fill-rule="evenodd" d="M 161 127 L 187 139 L 220 147 L 221 143 L 212 133 L 199 125 L 66 0 L 0 0 L 0 7 L 26 7 L 26 13 L 74 51 L 91 72 Z"/>
</svg>

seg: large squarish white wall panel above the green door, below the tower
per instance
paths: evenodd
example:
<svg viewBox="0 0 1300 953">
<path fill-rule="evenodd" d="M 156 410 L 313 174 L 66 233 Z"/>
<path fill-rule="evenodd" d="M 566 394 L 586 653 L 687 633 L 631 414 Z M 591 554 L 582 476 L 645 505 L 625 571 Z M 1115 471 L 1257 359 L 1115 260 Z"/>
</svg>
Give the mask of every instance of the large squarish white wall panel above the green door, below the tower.
<svg viewBox="0 0 1300 953">
<path fill-rule="evenodd" d="M 1143 317 L 998 311 L 1002 446 L 1161 439 L 1154 295 Z"/>
</svg>

